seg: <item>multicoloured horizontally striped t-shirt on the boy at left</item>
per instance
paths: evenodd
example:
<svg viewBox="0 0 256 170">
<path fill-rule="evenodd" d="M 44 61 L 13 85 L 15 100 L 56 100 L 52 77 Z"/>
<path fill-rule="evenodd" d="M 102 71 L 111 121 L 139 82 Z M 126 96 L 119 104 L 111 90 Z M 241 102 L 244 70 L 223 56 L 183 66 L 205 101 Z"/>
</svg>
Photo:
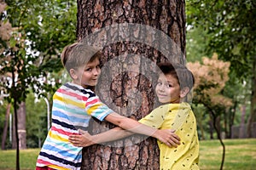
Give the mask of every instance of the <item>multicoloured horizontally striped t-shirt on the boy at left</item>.
<svg viewBox="0 0 256 170">
<path fill-rule="evenodd" d="M 73 146 L 69 135 L 78 134 L 79 128 L 86 130 L 91 116 L 102 121 L 111 112 L 90 89 L 73 83 L 62 85 L 53 96 L 52 124 L 37 167 L 80 169 L 82 147 Z"/>
</svg>

